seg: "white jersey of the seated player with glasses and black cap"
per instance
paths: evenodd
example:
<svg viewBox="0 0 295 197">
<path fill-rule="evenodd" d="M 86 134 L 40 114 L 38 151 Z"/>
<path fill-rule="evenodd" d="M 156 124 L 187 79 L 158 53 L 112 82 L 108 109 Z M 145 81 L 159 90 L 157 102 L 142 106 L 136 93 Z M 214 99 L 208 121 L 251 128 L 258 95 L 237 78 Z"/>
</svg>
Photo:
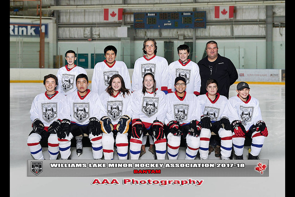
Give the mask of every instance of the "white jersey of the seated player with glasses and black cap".
<svg viewBox="0 0 295 197">
<path fill-rule="evenodd" d="M 165 124 L 171 120 L 177 120 L 180 125 L 190 123 L 192 120 L 200 121 L 198 116 L 197 97 L 193 93 L 185 91 L 184 96 L 180 98 L 176 92 L 166 95 L 167 114 Z"/>
</svg>

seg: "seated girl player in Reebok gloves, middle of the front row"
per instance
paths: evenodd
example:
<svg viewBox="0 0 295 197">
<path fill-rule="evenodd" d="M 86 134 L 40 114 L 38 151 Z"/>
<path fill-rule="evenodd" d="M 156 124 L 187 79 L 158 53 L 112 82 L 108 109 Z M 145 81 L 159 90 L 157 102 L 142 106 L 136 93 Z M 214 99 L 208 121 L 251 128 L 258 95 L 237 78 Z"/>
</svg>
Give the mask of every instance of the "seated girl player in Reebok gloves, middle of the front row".
<svg viewBox="0 0 295 197">
<path fill-rule="evenodd" d="M 163 126 L 167 103 L 165 93 L 156 89 L 154 75 L 144 75 L 143 88 L 132 93 L 132 132 L 130 159 L 139 159 L 144 135 L 150 135 L 155 143 L 155 159 L 165 159 L 166 137 Z"/>
</svg>

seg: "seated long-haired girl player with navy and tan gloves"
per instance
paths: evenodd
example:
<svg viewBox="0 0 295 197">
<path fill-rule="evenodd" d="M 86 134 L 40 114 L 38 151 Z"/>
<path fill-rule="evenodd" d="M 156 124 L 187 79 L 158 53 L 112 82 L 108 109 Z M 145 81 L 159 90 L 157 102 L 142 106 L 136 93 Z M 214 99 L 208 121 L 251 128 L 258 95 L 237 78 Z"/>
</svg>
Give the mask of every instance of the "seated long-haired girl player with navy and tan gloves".
<svg viewBox="0 0 295 197">
<path fill-rule="evenodd" d="M 114 130 L 102 130 L 102 148 L 104 159 L 113 159 L 114 142 L 119 159 L 128 158 L 128 134 L 131 125 L 131 91 L 125 87 L 120 74 L 110 78 L 108 88 L 100 94 L 102 103 L 100 117 L 111 122 Z M 131 128 L 131 126 L 130 126 Z"/>
</svg>

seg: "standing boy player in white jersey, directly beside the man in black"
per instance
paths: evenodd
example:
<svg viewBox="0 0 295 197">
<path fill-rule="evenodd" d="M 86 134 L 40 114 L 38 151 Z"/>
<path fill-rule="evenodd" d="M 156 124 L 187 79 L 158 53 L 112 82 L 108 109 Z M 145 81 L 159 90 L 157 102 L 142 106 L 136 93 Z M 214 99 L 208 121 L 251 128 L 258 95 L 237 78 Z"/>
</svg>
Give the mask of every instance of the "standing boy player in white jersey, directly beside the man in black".
<svg viewBox="0 0 295 197">
<path fill-rule="evenodd" d="M 169 68 L 169 82 L 168 92 L 175 92 L 174 80 L 176 77 L 183 77 L 187 80 L 186 89 L 187 93 L 200 94 L 201 77 L 199 73 L 199 66 L 195 62 L 188 59 L 190 55 L 190 47 L 186 44 L 177 47 L 179 60 L 171 62 Z"/>
</svg>

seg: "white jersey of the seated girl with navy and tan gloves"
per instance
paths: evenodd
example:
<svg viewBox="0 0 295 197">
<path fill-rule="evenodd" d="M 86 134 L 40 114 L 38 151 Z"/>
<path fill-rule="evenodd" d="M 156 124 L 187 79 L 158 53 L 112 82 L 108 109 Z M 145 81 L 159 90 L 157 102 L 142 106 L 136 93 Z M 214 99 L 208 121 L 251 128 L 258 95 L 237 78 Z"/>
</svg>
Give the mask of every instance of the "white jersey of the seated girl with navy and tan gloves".
<svg viewBox="0 0 295 197">
<path fill-rule="evenodd" d="M 102 103 L 100 117 L 108 116 L 114 126 L 122 115 L 128 115 L 131 118 L 131 91 L 130 94 L 125 93 L 125 97 L 121 92 L 110 96 L 106 91 L 99 96 Z"/>
</svg>

